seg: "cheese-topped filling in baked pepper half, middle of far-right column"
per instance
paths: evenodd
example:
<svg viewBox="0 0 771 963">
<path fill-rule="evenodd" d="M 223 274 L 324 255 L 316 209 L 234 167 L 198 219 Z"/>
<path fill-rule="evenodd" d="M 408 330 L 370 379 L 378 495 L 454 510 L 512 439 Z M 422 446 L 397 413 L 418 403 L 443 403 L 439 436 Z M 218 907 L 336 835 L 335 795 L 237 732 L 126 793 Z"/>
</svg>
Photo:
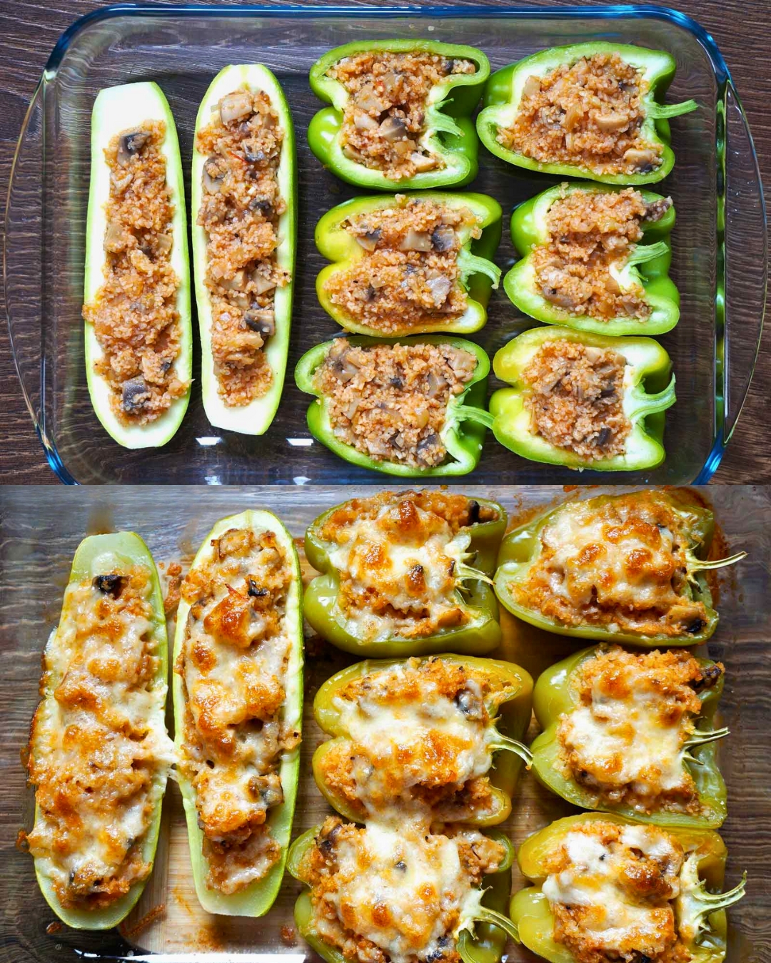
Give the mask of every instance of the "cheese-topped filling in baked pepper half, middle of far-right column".
<svg viewBox="0 0 771 963">
<path fill-rule="evenodd" d="M 702 712 L 699 693 L 722 674 L 722 664 L 702 667 L 689 652 L 600 651 L 570 680 L 576 705 L 557 727 L 561 771 L 594 805 L 701 813 L 684 754 Z"/>
</svg>

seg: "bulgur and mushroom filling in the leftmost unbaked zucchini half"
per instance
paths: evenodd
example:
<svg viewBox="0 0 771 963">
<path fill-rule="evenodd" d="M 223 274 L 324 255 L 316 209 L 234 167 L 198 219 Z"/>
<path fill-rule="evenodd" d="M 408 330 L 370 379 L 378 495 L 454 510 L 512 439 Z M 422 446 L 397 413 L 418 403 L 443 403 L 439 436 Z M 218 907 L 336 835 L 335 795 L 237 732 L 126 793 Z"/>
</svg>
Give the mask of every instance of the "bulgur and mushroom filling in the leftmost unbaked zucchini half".
<svg viewBox="0 0 771 963">
<path fill-rule="evenodd" d="M 104 150 L 110 169 L 104 283 L 83 305 L 83 317 L 103 352 L 94 371 L 107 382 L 110 406 L 125 426 L 155 421 L 190 387 L 174 366 L 182 332 L 165 137 L 162 120 L 146 120 L 116 134 Z"/>
</svg>

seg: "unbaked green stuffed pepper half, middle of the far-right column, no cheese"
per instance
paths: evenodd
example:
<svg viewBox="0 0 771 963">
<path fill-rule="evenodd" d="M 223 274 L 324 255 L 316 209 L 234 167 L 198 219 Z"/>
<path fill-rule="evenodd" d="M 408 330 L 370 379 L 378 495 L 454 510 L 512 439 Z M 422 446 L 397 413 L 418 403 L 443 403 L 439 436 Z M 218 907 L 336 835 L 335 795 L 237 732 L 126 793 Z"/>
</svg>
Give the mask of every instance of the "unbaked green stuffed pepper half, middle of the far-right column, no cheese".
<svg viewBox="0 0 771 963">
<path fill-rule="evenodd" d="M 558 184 L 520 204 L 512 240 L 521 260 L 503 286 L 545 325 L 594 334 L 663 334 L 678 324 L 669 277 L 675 208 L 634 188 Z"/>
</svg>

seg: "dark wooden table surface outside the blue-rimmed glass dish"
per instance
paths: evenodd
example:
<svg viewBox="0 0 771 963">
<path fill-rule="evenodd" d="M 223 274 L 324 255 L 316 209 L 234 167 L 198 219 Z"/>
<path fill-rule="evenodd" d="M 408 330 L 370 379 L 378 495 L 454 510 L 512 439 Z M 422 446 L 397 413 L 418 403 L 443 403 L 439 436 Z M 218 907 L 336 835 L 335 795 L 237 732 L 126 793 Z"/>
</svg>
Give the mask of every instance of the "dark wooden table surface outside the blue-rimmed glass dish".
<svg viewBox="0 0 771 963">
<path fill-rule="evenodd" d="M 281 4 L 281 0 L 267 2 Z M 324 6 L 324 0 L 306 2 Z M 444 0 L 447 4 L 453 2 L 456 0 Z M 478 2 L 495 6 L 495 0 Z M 526 0 L 519 2 L 527 5 Z M 565 4 L 551 0 L 551 5 Z M 590 5 L 598 4 L 587 4 Z M 21 122 L 52 47 L 72 20 L 99 6 L 104 5 L 93 3 L 93 0 L 0 0 L 0 185 L 3 185 L 3 195 Z M 743 0 L 680 0 L 678 8 L 705 26 L 731 67 L 755 137 L 765 194 L 771 199 L 771 114 L 765 82 L 771 44 L 768 0 L 750 0 L 749 3 Z M 768 327 L 763 342 L 750 398 L 728 453 L 715 475 L 716 482 L 771 482 L 771 437 L 767 416 L 771 330 Z M 0 411 L 3 414 L 0 482 L 53 483 L 55 476 L 42 454 L 13 370 L 6 325 L 0 325 Z"/>
</svg>

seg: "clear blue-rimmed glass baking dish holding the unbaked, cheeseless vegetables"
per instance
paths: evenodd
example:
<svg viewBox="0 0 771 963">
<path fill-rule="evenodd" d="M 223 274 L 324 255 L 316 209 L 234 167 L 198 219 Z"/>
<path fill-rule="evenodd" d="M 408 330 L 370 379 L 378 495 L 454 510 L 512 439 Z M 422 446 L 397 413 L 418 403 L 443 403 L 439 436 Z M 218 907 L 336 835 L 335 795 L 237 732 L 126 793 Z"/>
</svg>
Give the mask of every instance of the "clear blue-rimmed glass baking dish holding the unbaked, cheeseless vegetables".
<svg viewBox="0 0 771 963">
<path fill-rule="evenodd" d="M 678 212 L 673 276 L 682 298 L 678 327 L 661 340 L 678 376 L 678 403 L 667 413 L 662 466 L 633 481 L 707 481 L 716 469 L 746 396 L 765 303 L 766 233 L 758 164 L 731 75 L 705 30 L 680 13 L 653 7 L 142 7 L 95 11 L 74 23 L 51 54 L 19 139 L 9 190 L 5 283 L 13 354 L 25 398 L 51 467 L 63 481 L 165 483 L 374 483 L 314 441 L 306 427 L 310 397 L 292 371 L 309 347 L 337 330 L 316 300 L 326 263 L 313 228 L 334 204 L 362 193 L 311 155 L 307 123 L 320 107 L 307 84 L 310 65 L 352 39 L 427 37 L 482 48 L 492 68 L 544 47 L 608 39 L 671 52 L 678 64 L 673 100 L 700 110 L 674 123 L 677 164 L 664 184 Z M 300 234 L 297 295 L 286 386 L 269 431 L 250 438 L 212 429 L 194 382 L 173 441 L 157 450 L 120 448 L 97 422 L 83 361 L 83 255 L 89 181 L 89 124 L 103 87 L 155 80 L 171 102 L 186 176 L 199 99 L 224 65 L 260 61 L 284 86 L 297 128 Z M 482 148 L 471 189 L 504 208 L 497 262 L 515 254 L 508 219 L 522 200 L 554 183 L 493 158 Z M 189 197 L 188 191 L 188 197 Z M 476 340 L 491 355 L 534 322 L 502 289 Z M 197 339 L 194 339 L 197 340 Z M 199 355 L 194 356 L 194 375 Z M 492 383 L 492 388 L 496 387 Z M 569 482 L 567 468 L 513 455 L 489 434 L 474 481 Z M 586 472 L 584 480 L 630 481 Z"/>
</svg>

